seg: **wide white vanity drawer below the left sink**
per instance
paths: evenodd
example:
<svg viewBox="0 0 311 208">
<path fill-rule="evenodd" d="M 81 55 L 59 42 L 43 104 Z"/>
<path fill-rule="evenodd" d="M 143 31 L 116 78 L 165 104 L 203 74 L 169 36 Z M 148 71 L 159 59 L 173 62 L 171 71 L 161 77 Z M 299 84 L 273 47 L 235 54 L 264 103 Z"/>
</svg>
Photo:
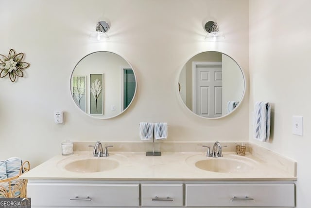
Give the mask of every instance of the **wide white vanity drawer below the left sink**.
<svg viewBox="0 0 311 208">
<path fill-rule="evenodd" d="M 27 189 L 34 207 L 139 207 L 139 184 L 28 183 Z"/>
</svg>

